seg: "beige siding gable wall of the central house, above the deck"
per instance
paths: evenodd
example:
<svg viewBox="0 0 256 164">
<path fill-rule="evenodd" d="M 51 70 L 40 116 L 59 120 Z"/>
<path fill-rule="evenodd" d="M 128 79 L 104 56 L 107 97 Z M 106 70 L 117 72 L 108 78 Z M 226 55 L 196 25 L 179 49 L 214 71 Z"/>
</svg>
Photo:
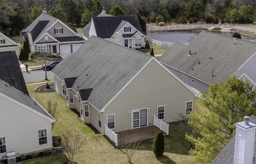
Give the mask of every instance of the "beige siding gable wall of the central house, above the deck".
<svg viewBox="0 0 256 164">
<path fill-rule="evenodd" d="M 173 122 L 179 113 L 186 114 L 186 101 L 193 101 L 194 110 L 194 93 L 152 60 L 106 107 L 104 124 L 108 114 L 115 114 L 114 132 L 132 129 L 132 110 L 150 108 L 147 125 L 153 125 L 157 106 L 162 105 L 165 105 L 164 122 Z"/>
</svg>

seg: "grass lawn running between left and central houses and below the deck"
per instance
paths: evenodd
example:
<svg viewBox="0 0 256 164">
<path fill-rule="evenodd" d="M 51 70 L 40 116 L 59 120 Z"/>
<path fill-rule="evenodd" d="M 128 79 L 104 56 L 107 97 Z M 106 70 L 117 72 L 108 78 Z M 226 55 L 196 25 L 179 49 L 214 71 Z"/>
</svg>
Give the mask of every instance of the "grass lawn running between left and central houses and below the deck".
<svg viewBox="0 0 256 164">
<path fill-rule="evenodd" d="M 58 102 L 58 119 L 52 130 L 53 136 L 58 132 L 68 129 L 78 131 L 86 138 L 86 144 L 76 155 L 74 161 L 79 164 L 128 164 L 126 155 L 119 149 L 114 148 L 98 131 L 91 125 L 86 125 L 80 120 L 80 115 L 76 110 L 70 110 L 66 106 L 66 101 L 56 92 L 34 92 L 34 88 L 39 85 L 27 86 L 30 96 L 35 98 L 44 108 L 48 99 Z M 169 136 L 165 137 L 165 152 L 162 157 L 156 158 L 152 152 L 152 141 L 144 141 L 144 149 L 138 151 L 132 162 L 134 164 L 196 164 L 194 158 L 188 155 L 190 143 L 185 139 L 185 131 L 180 129 L 178 124 L 170 124 Z M 22 164 L 45 164 L 51 161 L 52 164 L 61 164 L 67 161 L 64 154 L 53 154 L 42 158 L 34 158 L 22 161 Z"/>
</svg>

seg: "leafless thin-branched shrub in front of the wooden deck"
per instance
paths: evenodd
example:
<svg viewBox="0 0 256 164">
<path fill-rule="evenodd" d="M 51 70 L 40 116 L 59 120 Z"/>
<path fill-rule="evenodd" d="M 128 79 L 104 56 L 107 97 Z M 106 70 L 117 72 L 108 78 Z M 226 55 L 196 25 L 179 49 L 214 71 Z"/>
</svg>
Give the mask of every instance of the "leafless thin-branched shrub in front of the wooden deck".
<svg viewBox="0 0 256 164">
<path fill-rule="evenodd" d="M 142 150 L 143 146 L 140 145 L 142 141 L 139 141 L 140 136 L 138 134 L 126 134 L 123 133 L 124 140 L 121 140 L 120 146 L 122 147 L 122 152 L 126 154 L 128 162 L 132 163 L 132 158 L 136 156 L 137 150 Z"/>
</svg>

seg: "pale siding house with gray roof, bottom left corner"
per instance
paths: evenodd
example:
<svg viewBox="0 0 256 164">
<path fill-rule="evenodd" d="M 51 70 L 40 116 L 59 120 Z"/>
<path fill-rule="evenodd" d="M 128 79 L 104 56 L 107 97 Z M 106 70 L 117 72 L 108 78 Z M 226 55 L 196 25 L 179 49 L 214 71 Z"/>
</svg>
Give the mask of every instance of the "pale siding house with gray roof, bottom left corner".
<svg viewBox="0 0 256 164">
<path fill-rule="evenodd" d="M 6 152 L 30 154 L 52 149 L 54 118 L 30 96 L 0 80 L 0 160 Z"/>
</svg>

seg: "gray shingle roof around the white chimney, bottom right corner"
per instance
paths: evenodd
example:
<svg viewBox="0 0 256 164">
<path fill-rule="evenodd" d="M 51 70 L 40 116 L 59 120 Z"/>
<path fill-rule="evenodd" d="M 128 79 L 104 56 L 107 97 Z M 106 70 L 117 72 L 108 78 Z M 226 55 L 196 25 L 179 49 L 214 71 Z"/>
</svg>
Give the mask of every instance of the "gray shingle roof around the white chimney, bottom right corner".
<svg viewBox="0 0 256 164">
<path fill-rule="evenodd" d="M 256 116 L 250 116 L 249 122 L 256 124 Z M 256 134 L 255 137 L 256 138 Z M 226 144 L 226 146 L 214 158 L 211 164 L 232 164 L 234 162 L 236 135 Z M 256 158 L 256 142 L 254 142 L 254 158 Z"/>
</svg>

